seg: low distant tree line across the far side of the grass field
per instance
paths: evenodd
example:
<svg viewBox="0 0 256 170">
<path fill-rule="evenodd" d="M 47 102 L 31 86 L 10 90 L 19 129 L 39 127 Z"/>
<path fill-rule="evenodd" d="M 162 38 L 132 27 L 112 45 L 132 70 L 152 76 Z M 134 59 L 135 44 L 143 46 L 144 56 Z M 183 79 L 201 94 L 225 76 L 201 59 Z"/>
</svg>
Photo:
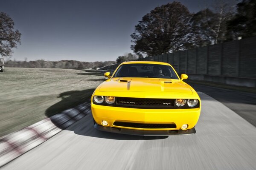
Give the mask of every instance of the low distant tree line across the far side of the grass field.
<svg viewBox="0 0 256 170">
<path fill-rule="evenodd" d="M 39 59 L 36 61 L 29 61 L 29 62 L 7 60 L 5 62 L 5 67 L 97 69 L 97 68 L 104 67 L 106 65 L 114 64 L 114 63 L 116 62 L 115 61 L 81 62 L 76 60 L 45 61 L 44 59 Z"/>
</svg>

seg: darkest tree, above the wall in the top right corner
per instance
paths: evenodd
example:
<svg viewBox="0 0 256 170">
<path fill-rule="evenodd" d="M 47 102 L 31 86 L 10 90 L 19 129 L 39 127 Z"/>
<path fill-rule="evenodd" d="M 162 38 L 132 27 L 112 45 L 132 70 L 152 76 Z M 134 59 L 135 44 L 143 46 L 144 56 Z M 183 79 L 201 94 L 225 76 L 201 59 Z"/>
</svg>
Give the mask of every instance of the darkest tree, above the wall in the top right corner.
<svg viewBox="0 0 256 170">
<path fill-rule="evenodd" d="M 237 5 L 237 13 L 227 23 L 227 36 L 230 40 L 237 37 L 256 36 L 256 1 L 243 0 Z"/>
</svg>

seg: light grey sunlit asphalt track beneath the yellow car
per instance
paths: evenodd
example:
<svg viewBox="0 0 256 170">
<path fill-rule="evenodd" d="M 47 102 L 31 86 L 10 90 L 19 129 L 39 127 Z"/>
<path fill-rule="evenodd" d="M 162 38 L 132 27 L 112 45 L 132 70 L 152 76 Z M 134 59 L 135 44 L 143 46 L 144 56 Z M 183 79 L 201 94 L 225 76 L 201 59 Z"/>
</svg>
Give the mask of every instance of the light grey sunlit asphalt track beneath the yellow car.
<svg viewBox="0 0 256 170">
<path fill-rule="evenodd" d="M 256 127 L 199 93 L 197 133 L 143 137 L 105 133 L 85 116 L 3 170 L 255 170 Z"/>
</svg>

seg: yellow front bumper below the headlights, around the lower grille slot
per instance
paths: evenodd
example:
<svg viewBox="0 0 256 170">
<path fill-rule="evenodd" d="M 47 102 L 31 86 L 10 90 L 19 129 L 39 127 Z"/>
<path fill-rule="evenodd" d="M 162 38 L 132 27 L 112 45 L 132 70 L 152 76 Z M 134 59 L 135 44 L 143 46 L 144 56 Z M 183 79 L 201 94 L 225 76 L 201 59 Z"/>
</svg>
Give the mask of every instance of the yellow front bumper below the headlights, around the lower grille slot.
<svg viewBox="0 0 256 170">
<path fill-rule="evenodd" d="M 106 127 L 117 127 L 131 130 L 144 131 L 169 131 L 181 130 L 183 124 L 188 125 L 188 129 L 195 127 L 198 122 L 201 108 L 191 109 L 137 109 L 120 108 L 111 106 L 95 105 L 91 103 L 93 119 L 98 125 L 102 125 L 102 120 L 108 122 Z M 131 122 L 144 124 L 175 124 L 176 128 L 136 128 L 114 125 L 114 122 Z"/>
</svg>

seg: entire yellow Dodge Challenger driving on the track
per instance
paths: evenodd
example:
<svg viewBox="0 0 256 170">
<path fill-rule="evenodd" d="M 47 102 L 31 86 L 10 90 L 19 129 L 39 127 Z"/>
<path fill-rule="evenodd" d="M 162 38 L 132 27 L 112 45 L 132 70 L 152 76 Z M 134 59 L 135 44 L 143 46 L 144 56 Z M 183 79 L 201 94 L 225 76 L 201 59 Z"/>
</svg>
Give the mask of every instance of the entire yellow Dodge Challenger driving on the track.
<svg viewBox="0 0 256 170">
<path fill-rule="evenodd" d="M 120 64 L 91 97 L 98 130 L 143 136 L 194 134 L 201 111 L 196 91 L 165 62 Z"/>
</svg>

